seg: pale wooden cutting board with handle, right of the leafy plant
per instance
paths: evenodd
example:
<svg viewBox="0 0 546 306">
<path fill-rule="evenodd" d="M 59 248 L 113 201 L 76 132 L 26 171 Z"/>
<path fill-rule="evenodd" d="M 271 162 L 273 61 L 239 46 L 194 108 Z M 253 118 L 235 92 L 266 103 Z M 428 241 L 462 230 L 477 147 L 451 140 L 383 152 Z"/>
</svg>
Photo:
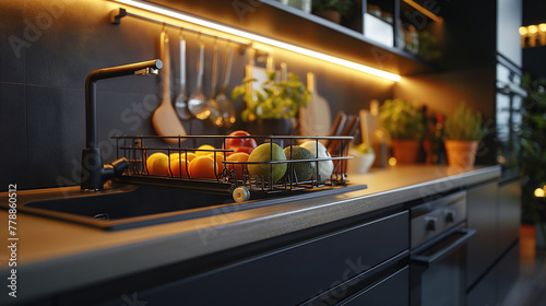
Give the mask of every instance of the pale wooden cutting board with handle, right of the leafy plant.
<svg viewBox="0 0 546 306">
<path fill-rule="evenodd" d="M 332 127 L 330 105 L 319 95 L 314 74 L 307 73 L 307 89 L 311 99 L 307 107 L 299 108 L 299 133 L 301 136 L 329 136 Z"/>
</svg>

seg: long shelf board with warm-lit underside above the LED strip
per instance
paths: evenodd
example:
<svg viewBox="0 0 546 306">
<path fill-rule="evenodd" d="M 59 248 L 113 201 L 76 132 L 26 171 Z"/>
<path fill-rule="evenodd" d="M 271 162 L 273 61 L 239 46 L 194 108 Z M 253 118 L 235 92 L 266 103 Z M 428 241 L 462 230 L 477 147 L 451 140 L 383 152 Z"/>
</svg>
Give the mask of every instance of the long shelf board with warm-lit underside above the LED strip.
<svg viewBox="0 0 546 306">
<path fill-rule="evenodd" d="M 389 1 L 395 3 L 394 1 L 402 0 Z M 232 1 L 224 0 L 195 1 L 191 5 L 171 0 L 150 0 L 150 2 L 205 20 L 214 19 L 218 24 L 399 75 L 441 70 L 437 64 L 401 48 L 385 46 L 366 37 L 364 28 L 336 24 L 280 1 L 252 1 L 237 8 Z M 363 1 L 363 7 L 366 1 Z M 364 13 L 365 9 L 361 8 L 361 25 L 364 25 Z"/>
</svg>

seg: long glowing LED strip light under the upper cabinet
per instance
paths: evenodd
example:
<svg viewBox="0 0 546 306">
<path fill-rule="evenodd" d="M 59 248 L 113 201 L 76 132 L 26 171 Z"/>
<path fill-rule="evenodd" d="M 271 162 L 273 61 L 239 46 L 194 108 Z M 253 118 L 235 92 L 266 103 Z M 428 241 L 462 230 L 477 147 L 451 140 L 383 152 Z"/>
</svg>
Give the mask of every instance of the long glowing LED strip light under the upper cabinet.
<svg viewBox="0 0 546 306">
<path fill-rule="evenodd" d="M 262 43 L 262 44 L 265 44 L 265 45 L 274 46 L 274 47 L 277 47 L 277 48 L 290 50 L 290 51 L 294 51 L 294 52 L 297 52 L 297 54 L 300 54 L 300 55 L 305 55 L 305 56 L 309 56 L 309 57 L 312 57 L 312 58 L 316 58 L 316 59 L 324 60 L 324 61 L 328 61 L 328 62 L 331 62 L 331 63 L 343 66 L 343 67 L 346 67 L 346 68 L 349 68 L 349 69 L 361 71 L 361 72 L 365 72 L 365 73 L 368 73 L 368 74 L 372 74 L 372 75 L 376 75 L 376 76 L 379 76 L 379 78 L 383 78 L 383 79 L 387 79 L 387 80 L 391 80 L 391 81 L 394 81 L 394 82 L 400 82 L 401 81 L 400 75 L 394 74 L 394 73 L 390 73 L 390 72 L 382 71 L 382 70 L 379 70 L 379 69 L 375 69 L 375 68 L 371 68 L 371 67 L 368 67 L 368 66 L 364 66 L 364 64 L 360 64 L 360 63 L 356 63 L 356 62 L 352 62 L 352 61 L 344 60 L 344 59 L 341 59 L 341 58 L 336 58 L 336 57 L 333 57 L 333 56 L 324 55 L 324 54 L 317 52 L 317 51 L 313 51 L 313 50 L 310 50 L 310 49 L 301 48 L 301 47 L 298 47 L 298 46 L 294 46 L 294 45 L 290 45 L 290 44 L 286 44 L 286 43 L 283 43 L 283 42 L 271 39 L 271 38 L 268 38 L 268 37 L 264 37 L 264 36 L 256 35 L 256 34 L 252 34 L 252 33 L 249 33 L 249 32 L 240 31 L 240 30 L 237 30 L 237 28 L 234 28 L 234 27 L 229 27 L 229 26 L 225 26 L 225 25 L 222 25 L 222 24 L 213 23 L 213 22 L 210 22 L 210 21 L 206 21 L 206 20 L 198 19 L 198 17 L 194 17 L 194 16 L 191 16 L 191 15 L 178 12 L 178 11 L 174 11 L 174 10 L 170 10 L 170 9 L 166 9 L 166 8 L 163 8 L 163 7 L 159 7 L 159 5 L 150 4 L 150 3 L 142 2 L 142 1 L 136 1 L 136 0 L 114 0 L 114 1 L 119 2 L 119 3 L 124 3 L 124 4 L 128 4 L 128 5 L 132 5 L 132 7 L 135 7 L 135 8 L 139 8 L 139 9 L 152 11 L 152 12 L 155 12 L 155 13 L 158 13 L 158 14 L 162 14 L 162 15 L 166 15 L 166 16 L 169 16 L 169 17 L 174 17 L 174 19 L 177 19 L 177 20 L 181 20 L 181 21 L 185 21 L 185 22 L 189 22 L 189 23 L 193 23 L 193 24 L 197 24 L 197 25 L 201 25 L 201 26 L 204 26 L 204 27 L 209 27 L 209 28 L 212 28 L 212 30 L 215 30 L 215 31 L 219 31 L 219 32 L 233 34 L 233 35 L 236 35 L 236 36 L 239 36 L 239 37 L 242 37 L 242 38 L 247 38 L 247 39 L 253 40 L 253 42 L 258 42 L 258 43 Z"/>
</svg>

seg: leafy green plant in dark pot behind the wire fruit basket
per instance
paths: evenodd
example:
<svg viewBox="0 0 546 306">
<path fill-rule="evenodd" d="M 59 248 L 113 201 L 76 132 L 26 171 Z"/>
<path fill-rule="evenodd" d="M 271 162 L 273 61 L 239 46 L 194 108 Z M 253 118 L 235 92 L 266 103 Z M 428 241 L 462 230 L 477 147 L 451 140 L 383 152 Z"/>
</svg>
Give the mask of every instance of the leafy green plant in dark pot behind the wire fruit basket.
<svg viewBox="0 0 546 306">
<path fill-rule="evenodd" d="M 232 92 L 234 99 L 242 95 L 246 108 L 241 113 L 241 119 L 257 134 L 290 134 L 292 119 L 311 98 L 298 75 L 289 72 L 278 81 L 277 74 L 276 71 L 268 71 L 268 79 L 260 85 L 260 90 L 249 90 L 256 79 L 247 78 Z"/>
</svg>

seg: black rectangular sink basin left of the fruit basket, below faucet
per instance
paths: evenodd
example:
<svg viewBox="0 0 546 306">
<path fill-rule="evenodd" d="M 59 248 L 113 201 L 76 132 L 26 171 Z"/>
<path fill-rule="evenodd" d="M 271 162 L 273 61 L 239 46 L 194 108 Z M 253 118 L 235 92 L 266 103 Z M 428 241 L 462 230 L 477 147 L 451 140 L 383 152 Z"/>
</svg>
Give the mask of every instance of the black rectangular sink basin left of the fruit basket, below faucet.
<svg viewBox="0 0 546 306">
<path fill-rule="evenodd" d="M 104 229 L 123 229 L 212 215 L 212 207 L 235 204 L 230 195 L 216 195 L 158 186 L 25 202 L 23 212 L 86 224 Z"/>
</svg>

